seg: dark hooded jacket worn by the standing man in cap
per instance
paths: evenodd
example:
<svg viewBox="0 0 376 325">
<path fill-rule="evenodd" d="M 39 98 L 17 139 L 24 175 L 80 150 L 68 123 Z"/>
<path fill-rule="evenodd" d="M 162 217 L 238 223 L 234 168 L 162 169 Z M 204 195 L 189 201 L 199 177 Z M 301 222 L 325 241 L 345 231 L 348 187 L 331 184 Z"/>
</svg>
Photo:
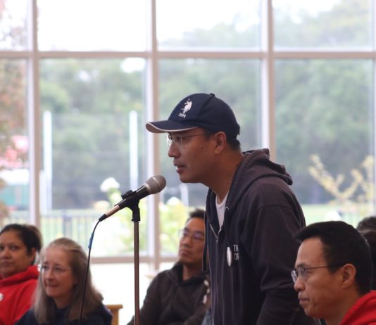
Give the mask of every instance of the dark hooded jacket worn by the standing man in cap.
<svg viewBox="0 0 376 325">
<path fill-rule="evenodd" d="M 244 155 L 221 228 L 215 193 L 206 200 L 213 324 L 318 324 L 299 308 L 290 276 L 299 248 L 293 236 L 305 226 L 292 178 L 269 160 L 268 149 Z"/>
</svg>

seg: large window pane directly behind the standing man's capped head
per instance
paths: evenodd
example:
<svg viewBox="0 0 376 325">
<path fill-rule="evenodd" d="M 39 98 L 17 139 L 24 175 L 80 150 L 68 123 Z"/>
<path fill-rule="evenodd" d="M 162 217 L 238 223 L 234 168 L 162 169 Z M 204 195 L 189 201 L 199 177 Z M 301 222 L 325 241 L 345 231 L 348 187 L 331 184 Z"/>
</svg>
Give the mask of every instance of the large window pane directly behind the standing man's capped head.
<svg viewBox="0 0 376 325">
<path fill-rule="evenodd" d="M 159 65 L 161 119 L 170 115 L 184 96 L 204 92 L 223 99 L 234 110 L 240 125 L 242 148 L 249 150 L 260 146 L 260 63 L 258 60 L 161 60 Z M 167 179 L 163 200 L 178 198 L 185 207 L 205 206 L 206 186 L 182 184 L 168 157 L 164 134 L 161 135 L 162 174 Z M 172 203 L 170 203 L 172 204 Z M 187 218 L 187 211 L 180 210 L 180 222 Z M 175 217 L 177 217 L 175 215 Z M 178 222 L 176 222 L 178 224 Z M 170 234 L 168 222 L 161 222 L 161 236 Z M 179 229 L 176 225 L 176 232 Z M 163 237 L 162 237 L 163 238 Z M 177 248 L 161 244 L 164 253 L 175 253 Z M 177 247 L 177 246 L 176 246 Z"/>
</svg>

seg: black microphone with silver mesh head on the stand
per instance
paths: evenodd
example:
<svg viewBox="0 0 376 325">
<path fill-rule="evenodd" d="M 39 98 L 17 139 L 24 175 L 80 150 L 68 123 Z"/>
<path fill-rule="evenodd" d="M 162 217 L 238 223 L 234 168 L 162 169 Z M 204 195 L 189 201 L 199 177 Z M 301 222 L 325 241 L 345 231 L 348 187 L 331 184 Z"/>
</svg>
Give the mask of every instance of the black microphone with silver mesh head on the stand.
<svg viewBox="0 0 376 325">
<path fill-rule="evenodd" d="M 127 191 L 121 197 L 121 200 L 118 204 L 114 205 L 111 210 L 108 210 L 104 215 L 99 218 L 99 222 L 111 217 L 114 213 L 122 210 L 124 208 L 129 207 L 133 203 L 141 200 L 145 196 L 149 196 L 150 194 L 155 194 L 161 192 L 165 188 L 165 177 L 161 175 L 155 175 L 150 177 L 147 181 L 145 181 L 142 186 L 139 187 L 136 191 Z"/>
</svg>

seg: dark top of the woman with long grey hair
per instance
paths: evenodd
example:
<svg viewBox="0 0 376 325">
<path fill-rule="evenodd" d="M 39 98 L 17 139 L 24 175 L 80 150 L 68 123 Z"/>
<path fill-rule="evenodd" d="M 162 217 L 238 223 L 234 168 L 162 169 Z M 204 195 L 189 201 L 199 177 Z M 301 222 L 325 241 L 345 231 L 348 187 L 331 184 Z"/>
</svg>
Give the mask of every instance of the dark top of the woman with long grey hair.
<svg viewBox="0 0 376 325">
<path fill-rule="evenodd" d="M 78 325 L 78 319 L 68 321 L 66 314 L 68 309 L 56 308 L 55 319 L 52 324 L 49 325 Z M 89 314 L 87 318 L 82 318 L 81 325 L 111 325 L 112 314 L 107 307 L 101 304 L 101 306 L 92 314 Z M 37 322 L 32 309 L 28 310 L 15 325 L 42 325 Z"/>
</svg>

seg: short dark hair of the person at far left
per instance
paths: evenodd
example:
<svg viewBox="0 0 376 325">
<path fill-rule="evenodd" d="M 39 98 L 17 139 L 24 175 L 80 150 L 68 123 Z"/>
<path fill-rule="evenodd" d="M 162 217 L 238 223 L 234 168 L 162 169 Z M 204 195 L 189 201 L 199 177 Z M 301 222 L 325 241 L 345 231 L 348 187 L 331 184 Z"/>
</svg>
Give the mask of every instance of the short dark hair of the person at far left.
<svg viewBox="0 0 376 325">
<path fill-rule="evenodd" d="M 42 234 L 32 224 L 7 224 L 1 229 L 0 235 L 7 231 L 15 231 L 18 234 L 18 237 L 20 237 L 20 240 L 26 246 L 27 253 L 31 253 L 32 248 L 35 248 L 37 253 L 42 249 Z"/>
</svg>

